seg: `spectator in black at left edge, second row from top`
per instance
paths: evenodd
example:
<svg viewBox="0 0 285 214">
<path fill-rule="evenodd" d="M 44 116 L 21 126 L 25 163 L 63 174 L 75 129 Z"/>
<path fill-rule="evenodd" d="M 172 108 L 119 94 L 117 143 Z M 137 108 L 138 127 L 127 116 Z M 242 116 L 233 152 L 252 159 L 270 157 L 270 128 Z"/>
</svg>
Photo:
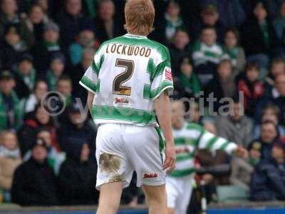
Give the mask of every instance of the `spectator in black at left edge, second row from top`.
<svg viewBox="0 0 285 214">
<path fill-rule="evenodd" d="M 7 26 L 4 31 L 4 42 L 0 46 L 0 68 L 11 70 L 26 53 L 28 47 L 21 40 L 19 29 L 16 26 Z"/>
</svg>

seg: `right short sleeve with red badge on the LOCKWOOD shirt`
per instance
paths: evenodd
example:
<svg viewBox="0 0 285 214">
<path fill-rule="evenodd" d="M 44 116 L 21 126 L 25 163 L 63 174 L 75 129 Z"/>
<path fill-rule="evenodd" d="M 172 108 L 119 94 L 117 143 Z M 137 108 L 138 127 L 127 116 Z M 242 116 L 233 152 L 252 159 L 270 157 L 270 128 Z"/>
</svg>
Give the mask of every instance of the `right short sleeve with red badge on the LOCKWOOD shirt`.
<svg viewBox="0 0 285 214">
<path fill-rule="evenodd" d="M 155 100 L 160 94 L 167 90 L 173 90 L 172 71 L 170 61 L 162 61 L 156 68 L 151 80 L 150 98 Z"/>
</svg>

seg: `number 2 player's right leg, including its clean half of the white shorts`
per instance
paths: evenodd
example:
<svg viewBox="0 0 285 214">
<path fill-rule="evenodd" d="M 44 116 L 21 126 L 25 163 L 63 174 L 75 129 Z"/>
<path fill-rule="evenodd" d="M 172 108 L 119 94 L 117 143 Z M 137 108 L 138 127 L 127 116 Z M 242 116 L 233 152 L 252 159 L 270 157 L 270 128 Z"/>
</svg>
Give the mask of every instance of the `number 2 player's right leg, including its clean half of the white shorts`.
<svg viewBox="0 0 285 214">
<path fill-rule="evenodd" d="M 125 129 L 125 150 L 137 172 L 151 214 L 166 214 L 166 173 L 163 171 L 163 142 L 154 127 L 129 126 Z"/>
</svg>

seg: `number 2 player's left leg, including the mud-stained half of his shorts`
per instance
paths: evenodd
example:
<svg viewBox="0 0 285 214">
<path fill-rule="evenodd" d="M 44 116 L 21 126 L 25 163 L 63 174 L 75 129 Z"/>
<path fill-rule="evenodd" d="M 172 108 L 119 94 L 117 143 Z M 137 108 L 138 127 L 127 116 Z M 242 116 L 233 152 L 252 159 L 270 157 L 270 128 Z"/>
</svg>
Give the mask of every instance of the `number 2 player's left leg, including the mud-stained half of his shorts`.
<svg viewBox="0 0 285 214">
<path fill-rule="evenodd" d="M 97 214 L 115 214 L 122 189 L 130 184 L 133 168 L 121 148 L 121 127 L 118 124 L 99 126 L 96 138 L 98 164 L 96 188 L 100 190 Z"/>
</svg>

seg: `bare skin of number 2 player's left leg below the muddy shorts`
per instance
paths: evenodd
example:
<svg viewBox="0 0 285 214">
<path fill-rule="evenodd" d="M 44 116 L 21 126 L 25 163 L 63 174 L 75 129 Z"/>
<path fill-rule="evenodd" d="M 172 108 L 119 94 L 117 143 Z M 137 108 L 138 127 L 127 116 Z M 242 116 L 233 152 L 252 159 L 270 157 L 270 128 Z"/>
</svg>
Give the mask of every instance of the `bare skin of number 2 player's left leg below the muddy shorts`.
<svg viewBox="0 0 285 214">
<path fill-rule="evenodd" d="M 100 186 L 100 198 L 97 214 L 115 214 L 120 206 L 123 183 L 105 183 Z"/>
</svg>

